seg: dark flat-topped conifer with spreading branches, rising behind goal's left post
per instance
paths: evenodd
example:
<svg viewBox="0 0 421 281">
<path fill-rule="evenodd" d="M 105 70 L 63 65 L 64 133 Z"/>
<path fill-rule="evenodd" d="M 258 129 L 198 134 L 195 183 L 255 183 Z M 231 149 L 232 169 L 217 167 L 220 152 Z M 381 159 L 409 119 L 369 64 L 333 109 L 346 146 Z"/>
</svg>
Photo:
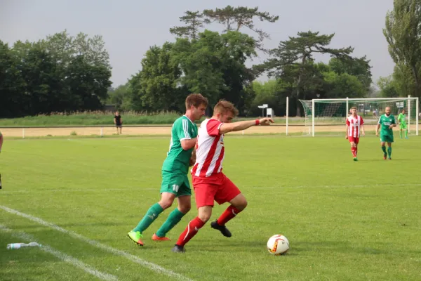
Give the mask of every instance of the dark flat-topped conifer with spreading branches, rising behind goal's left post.
<svg viewBox="0 0 421 281">
<path fill-rule="evenodd" d="M 352 53 L 353 48 L 328 48 L 335 34 L 319 35 L 319 32 L 298 32 L 298 37 L 289 37 L 281 41 L 278 48 L 270 51 L 272 58 L 264 64 L 256 66 L 256 70 L 267 71 L 269 77 L 281 77 L 284 72 L 295 69 L 293 84 L 295 98 L 305 99 L 305 86 L 309 86 L 309 79 L 314 78 L 314 53 L 326 53 L 333 57 L 344 58 Z M 299 103 L 297 114 L 300 115 Z"/>
</svg>

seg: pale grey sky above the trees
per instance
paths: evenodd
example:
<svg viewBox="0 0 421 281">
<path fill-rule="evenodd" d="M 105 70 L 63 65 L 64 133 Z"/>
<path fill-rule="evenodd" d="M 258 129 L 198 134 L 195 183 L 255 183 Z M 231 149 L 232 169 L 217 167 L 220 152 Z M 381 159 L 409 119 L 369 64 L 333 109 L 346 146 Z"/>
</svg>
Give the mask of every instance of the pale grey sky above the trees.
<svg viewBox="0 0 421 281">
<path fill-rule="evenodd" d="M 279 15 L 275 23 L 256 24 L 271 35 L 264 43 L 267 48 L 276 48 L 279 41 L 297 32 L 335 33 L 330 47 L 352 46 L 353 56 L 367 55 L 373 67 L 373 82 L 393 72 L 394 63 L 382 33 L 393 0 L 0 0 L 0 40 L 12 45 L 18 40 L 44 39 L 63 30 L 73 36 L 79 32 L 100 34 L 109 53 L 111 80 L 116 87 L 141 70 L 140 61 L 150 46 L 175 41 L 169 29 L 181 25 L 179 17 L 185 11 L 227 5 L 258 6 L 259 11 Z M 208 29 L 221 30 L 219 25 Z M 248 65 L 262 63 L 266 58 L 260 54 Z M 318 59 L 327 62 L 329 58 Z"/>
</svg>

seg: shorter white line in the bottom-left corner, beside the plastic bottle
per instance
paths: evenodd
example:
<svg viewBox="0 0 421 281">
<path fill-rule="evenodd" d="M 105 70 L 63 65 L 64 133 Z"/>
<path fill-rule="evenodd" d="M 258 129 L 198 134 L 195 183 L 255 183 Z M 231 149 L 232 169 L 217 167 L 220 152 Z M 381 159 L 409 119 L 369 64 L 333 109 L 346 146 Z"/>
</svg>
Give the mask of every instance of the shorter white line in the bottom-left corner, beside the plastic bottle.
<svg viewBox="0 0 421 281">
<path fill-rule="evenodd" d="M 22 239 L 22 240 L 26 240 L 27 242 L 35 241 L 35 239 L 32 235 L 29 235 L 29 234 L 24 233 L 24 232 L 14 233 L 14 232 L 12 232 L 11 229 L 6 228 L 6 226 L 2 226 L 1 224 L 0 224 L 0 230 L 11 233 L 11 235 L 13 235 L 14 237 L 17 237 L 17 238 Z M 76 266 L 76 268 L 81 268 L 81 269 L 85 270 L 87 273 L 90 273 L 91 275 L 94 275 L 95 277 L 98 277 L 99 279 L 107 280 L 107 281 L 108 280 L 109 281 L 118 280 L 116 276 L 108 274 L 108 273 L 102 273 L 102 272 L 96 270 L 95 268 L 93 268 L 91 266 L 88 266 L 85 263 L 79 261 L 79 259 L 75 259 L 74 257 L 69 256 L 67 254 L 64 254 L 61 251 L 58 251 L 56 249 L 53 249 L 52 247 L 50 247 L 48 245 L 43 244 L 42 247 L 40 247 L 39 249 L 41 249 L 43 251 L 46 251 L 49 254 L 52 254 L 53 256 L 57 257 L 58 259 L 61 259 L 62 261 L 65 261 L 66 263 L 72 264 L 72 266 Z"/>
</svg>

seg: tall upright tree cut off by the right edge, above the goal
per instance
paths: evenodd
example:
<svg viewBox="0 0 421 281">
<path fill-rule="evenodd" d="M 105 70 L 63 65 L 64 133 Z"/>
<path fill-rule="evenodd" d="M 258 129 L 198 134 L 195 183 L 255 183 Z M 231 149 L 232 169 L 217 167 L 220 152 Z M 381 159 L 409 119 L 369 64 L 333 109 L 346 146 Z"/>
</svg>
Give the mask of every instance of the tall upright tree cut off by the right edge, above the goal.
<svg viewBox="0 0 421 281">
<path fill-rule="evenodd" d="M 383 30 L 389 53 L 400 74 L 410 75 L 415 83 L 415 96 L 421 96 L 421 1 L 394 0 L 393 11 L 386 15 Z M 408 80 L 406 77 L 404 80 Z"/>
</svg>

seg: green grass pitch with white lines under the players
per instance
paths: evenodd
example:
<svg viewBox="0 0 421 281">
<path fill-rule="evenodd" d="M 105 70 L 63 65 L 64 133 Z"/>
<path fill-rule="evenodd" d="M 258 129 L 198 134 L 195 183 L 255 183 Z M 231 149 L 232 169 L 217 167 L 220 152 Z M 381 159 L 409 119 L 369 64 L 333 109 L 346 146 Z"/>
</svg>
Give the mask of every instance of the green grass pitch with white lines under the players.
<svg viewBox="0 0 421 281">
<path fill-rule="evenodd" d="M 173 242 L 150 239 L 169 211 L 145 231 L 145 247 L 126 237 L 159 200 L 168 138 L 9 139 L 0 279 L 421 280 L 420 141 L 396 139 L 385 161 L 368 136 L 353 162 L 344 138 L 226 136 L 224 171 L 248 207 L 227 224 L 233 237 L 207 224 L 174 254 L 195 204 Z M 277 233 L 290 241 L 285 256 L 267 252 Z M 6 250 L 31 240 L 44 247 Z"/>
</svg>

